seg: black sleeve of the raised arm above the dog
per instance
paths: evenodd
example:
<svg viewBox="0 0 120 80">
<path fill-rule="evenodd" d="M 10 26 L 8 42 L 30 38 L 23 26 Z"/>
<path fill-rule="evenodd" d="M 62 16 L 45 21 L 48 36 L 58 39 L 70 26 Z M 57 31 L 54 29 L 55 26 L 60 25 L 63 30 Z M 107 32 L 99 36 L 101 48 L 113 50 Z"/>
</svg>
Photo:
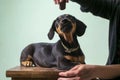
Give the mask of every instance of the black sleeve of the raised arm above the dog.
<svg viewBox="0 0 120 80">
<path fill-rule="evenodd" d="M 120 0 L 71 0 L 81 5 L 81 11 L 110 19 Z"/>
</svg>

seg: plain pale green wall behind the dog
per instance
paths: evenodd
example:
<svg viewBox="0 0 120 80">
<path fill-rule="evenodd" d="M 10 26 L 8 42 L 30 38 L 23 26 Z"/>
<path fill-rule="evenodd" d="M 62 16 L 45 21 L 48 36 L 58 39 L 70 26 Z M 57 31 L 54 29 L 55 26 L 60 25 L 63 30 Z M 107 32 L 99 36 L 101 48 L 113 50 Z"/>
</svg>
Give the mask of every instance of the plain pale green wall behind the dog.
<svg viewBox="0 0 120 80">
<path fill-rule="evenodd" d="M 19 66 L 22 49 L 36 42 L 50 41 L 47 33 L 53 20 L 61 14 L 71 14 L 87 25 L 86 33 L 79 43 L 88 64 L 105 64 L 108 55 L 108 21 L 90 13 L 82 13 L 79 5 L 69 2 L 60 11 L 53 0 L 0 0 L 0 80 L 5 71 Z"/>
</svg>

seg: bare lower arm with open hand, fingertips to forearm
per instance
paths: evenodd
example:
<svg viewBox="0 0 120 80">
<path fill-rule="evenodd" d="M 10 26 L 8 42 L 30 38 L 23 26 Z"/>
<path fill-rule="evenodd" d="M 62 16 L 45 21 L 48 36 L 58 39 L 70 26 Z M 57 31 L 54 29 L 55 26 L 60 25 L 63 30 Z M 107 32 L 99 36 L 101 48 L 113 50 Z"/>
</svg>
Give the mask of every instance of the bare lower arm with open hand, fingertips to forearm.
<svg viewBox="0 0 120 80">
<path fill-rule="evenodd" d="M 58 80 L 114 80 L 120 76 L 120 65 L 76 65 L 66 72 L 60 72 Z M 100 79 L 99 79 L 100 78 Z"/>
</svg>

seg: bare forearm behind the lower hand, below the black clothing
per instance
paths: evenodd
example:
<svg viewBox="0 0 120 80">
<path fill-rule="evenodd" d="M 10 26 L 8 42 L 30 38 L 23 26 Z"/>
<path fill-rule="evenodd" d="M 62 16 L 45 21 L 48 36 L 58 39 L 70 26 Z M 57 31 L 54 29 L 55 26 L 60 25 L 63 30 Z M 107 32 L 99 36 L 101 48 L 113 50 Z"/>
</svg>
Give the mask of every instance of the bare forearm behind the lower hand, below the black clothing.
<svg viewBox="0 0 120 80">
<path fill-rule="evenodd" d="M 94 77 L 113 79 L 120 76 L 120 65 L 95 66 Z"/>
</svg>

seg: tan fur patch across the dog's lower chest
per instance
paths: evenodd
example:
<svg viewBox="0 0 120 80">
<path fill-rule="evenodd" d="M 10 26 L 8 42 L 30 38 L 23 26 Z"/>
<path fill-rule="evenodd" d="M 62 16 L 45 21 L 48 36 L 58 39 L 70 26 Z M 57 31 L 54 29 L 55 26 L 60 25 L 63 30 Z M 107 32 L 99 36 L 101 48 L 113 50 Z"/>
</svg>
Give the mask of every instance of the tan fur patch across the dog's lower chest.
<svg viewBox="0 0 120 80">
<path fill-rule="evenodd" d="M 84 57 L 84 55 L 79 56 L 79 57 L 73 57 L 73 56 L 70 56 L 70 55 L 66 55 L 66 56 L 64 56 L 64 58 L 67 59 L 67 60 L 70 60 L 72 62 L 79 62 L 81 64 L 85 63 L 85 57 Z"/>
</svg>

